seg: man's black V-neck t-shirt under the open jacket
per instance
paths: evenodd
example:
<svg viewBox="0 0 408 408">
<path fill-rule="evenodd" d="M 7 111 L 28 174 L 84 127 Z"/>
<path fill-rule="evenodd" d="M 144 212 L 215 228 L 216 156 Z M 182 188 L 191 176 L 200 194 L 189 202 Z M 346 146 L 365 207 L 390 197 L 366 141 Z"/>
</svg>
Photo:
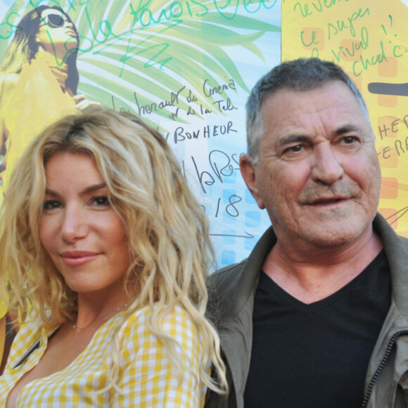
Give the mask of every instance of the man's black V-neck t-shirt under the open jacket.
<svg viewBox="0 0 408 408">
<path fill-rule="evenodd" d="M 360 407 L 390 300 L 384 251 L 338 292 L 310 305 L 262 272 L 245 407 Z"/>
</svg>

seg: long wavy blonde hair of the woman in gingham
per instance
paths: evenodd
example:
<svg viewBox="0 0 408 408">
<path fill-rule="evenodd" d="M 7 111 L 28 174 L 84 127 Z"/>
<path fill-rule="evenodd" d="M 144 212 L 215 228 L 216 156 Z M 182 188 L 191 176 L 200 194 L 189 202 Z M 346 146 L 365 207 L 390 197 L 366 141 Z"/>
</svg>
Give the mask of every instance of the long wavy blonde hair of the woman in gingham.
<svg viewBox="0 0 408 408">
<path fill-rule="evenodd" d="M 131 254 L 125 289 L 134 301 L 122 322 L 141 307 L 150 306 L 149 329 L 169 350 L 172 363 L 180 370 L 188 369 L 177 354 L 176 341 L 160 329 L 167 312 L 176 305 L 183 307 L 202 338 L 201 378 L 213 390 L 226 390 L 219 338 L 205 318 L 205 283 L 213 262 L 208 219 L 165 139 L 129 113 L 90 108 L 64 117 L 23 153 L 0 210 L 0 278 L 8 281 L 0 298 L 8 296 L 11 314 L 20 319 L 30 314 L 48 327 L 75 321 L 77 315 L 77 295 L 66 285 L 39 238 L 46 191 L 44 167 L 61 152 L 93 158 L 106 181 L 108 199 L 125 224 Z M 115 333 L 119 330 L 120 325 Z M 113 355 L 117 356 L 116 335 L 115 339 Z M 210 378 L 210 362 L 217 370 L 217 381 Z M 114 358 L 113 386 L 118 364 Z"/>
</svg>

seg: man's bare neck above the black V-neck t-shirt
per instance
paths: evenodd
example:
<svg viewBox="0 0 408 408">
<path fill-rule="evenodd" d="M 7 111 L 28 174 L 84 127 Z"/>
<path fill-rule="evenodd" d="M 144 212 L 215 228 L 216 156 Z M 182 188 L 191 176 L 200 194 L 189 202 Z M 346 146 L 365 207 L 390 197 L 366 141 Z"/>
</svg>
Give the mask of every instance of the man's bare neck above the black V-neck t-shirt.
<svg viewBox="0 0 408 408">
<path fill-rule="evenodd" d="M 302 252 L 281 245 L 278 238 L 262 268 L 284 291 L 310 304 L 355 279 L 382 248 L 374 231 L 341 248 L 309 248 Z"/>
</svg>

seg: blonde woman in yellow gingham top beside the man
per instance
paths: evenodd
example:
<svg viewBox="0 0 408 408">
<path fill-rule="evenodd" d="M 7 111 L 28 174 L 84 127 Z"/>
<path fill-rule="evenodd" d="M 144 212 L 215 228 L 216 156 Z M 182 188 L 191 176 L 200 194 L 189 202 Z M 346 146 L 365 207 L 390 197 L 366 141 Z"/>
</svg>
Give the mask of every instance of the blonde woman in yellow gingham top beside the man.
<svg viewBox="0 0 408 408">
<path fill-rule="evenodd" d="M 1 211 L 24 324 L 0 406 L 203 407 L 225 390 L 207 221 L 160 134 L 101 108 L 65 117 L 25 151 Z"/>
</svg>

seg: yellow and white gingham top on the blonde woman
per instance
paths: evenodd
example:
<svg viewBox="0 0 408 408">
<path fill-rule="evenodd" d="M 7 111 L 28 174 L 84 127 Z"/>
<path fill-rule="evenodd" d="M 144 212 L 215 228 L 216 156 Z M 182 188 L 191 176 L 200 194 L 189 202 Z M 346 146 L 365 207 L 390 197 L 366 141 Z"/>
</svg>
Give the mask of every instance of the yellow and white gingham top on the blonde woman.
<svg viewBox="0 0 408 408">
<path fill-rule="evenodd" d="M 119 333 L 119 386 L 123 393 L 113 388 L 94 393 L 107 385 L 110 340 L 122 313 L 103 324 L 68 367 L 25 385 L 16 407 L 203 407 L 206 387 L 198 375 L 203 357 L 200 335 L 193 319 L 178 306 L 167 314 L 162 329 L 181 345 L 180 355 L 189 360 L 194 374 L 184 370 L 179 383 L 178 371 L 170 364 L 165 348 L 147 327 L 148 307 L 144 307 L 125 321 Z M 20 329 L 0 376 L 0 407 L 5 406 L 18 379 L 39 362 L 51 333 L 33 323 Z M 38 338 L 39 348 L 13 369 Z"/>
</svg>

